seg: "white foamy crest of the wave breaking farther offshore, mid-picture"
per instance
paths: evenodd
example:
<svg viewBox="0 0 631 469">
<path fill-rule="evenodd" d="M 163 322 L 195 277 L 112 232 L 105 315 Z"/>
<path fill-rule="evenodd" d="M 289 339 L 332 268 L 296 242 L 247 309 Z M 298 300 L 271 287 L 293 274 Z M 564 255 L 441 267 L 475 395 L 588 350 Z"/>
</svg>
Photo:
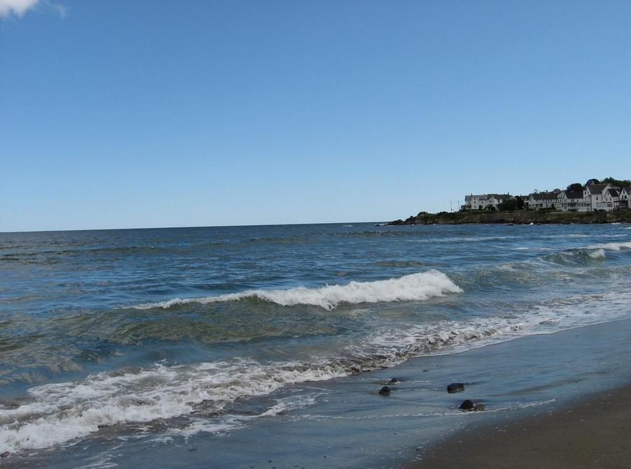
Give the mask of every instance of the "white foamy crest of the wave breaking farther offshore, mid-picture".
<svg viewBox="0 0 631 469">
<path fill-rule="evenodd" d="M 136 305 L 134 308 L 171 308 L 188 303 L 221 303 L 246 298 L 276 303 L 281 306 L 311 305 L 332 310 L 341 303 L 379 303 L 386 301 L 423 301 L 432 296 L 460 293 L 462 289 L 447 275 L 438 270 L 404 275 L 390 280 L 374 282 L 350 282 L 344 285 L 327 285 L 320 288 L 297 287 L 288 290 L 248 290 L 241 293 L 202 298 L 173 298 L 169 301 Z"/>
</svg>

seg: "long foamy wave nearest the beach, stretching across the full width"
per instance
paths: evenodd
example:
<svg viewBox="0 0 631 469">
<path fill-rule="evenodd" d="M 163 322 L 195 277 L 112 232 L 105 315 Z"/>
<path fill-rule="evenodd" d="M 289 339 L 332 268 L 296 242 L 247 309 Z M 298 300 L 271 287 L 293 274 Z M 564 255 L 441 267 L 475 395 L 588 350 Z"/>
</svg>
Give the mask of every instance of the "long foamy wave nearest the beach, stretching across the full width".
<svg viewBox="0 0 631 469">
<path fill-rule="evenodd" d="M 204 416 L 216 415 L 239 398 L 263 396 L 290 384 L 329 380 L 390 368 L 413 356 L 460 352 L 533 333 L 553 333 L 628 315 L 631 294 L 616 291 L 541 303 L 510 317 L 441 321 L 381 330 L 311 361 L 260 363 L 232 359 L 166 366 L 155 363 L 94 373 L 78 382 L 29 389 L 29 400 L 0 405 L 0 452 L 52 447 L 83 438 L 104 426 L 182 417 L 183 434 L 211 431 Z M 277 405 L 260 415 L 291 410 Z M 201 419 L 201 420 L 200 420 Z"/>
</svg>

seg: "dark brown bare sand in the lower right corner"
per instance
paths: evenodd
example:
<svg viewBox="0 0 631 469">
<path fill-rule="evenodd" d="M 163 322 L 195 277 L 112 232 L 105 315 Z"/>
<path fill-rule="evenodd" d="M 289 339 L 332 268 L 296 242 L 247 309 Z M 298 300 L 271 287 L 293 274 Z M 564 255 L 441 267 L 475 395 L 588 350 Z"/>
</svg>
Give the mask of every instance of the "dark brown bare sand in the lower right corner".
<svg viewBox="0 0 631 469">
<path fill-rule="evenodd" d="M 421 459 L 422 458 L 422 459 Z M 551 412 L 465 428 L 409 468 L 629 468 L 631 385 Z"/>
</svg>

